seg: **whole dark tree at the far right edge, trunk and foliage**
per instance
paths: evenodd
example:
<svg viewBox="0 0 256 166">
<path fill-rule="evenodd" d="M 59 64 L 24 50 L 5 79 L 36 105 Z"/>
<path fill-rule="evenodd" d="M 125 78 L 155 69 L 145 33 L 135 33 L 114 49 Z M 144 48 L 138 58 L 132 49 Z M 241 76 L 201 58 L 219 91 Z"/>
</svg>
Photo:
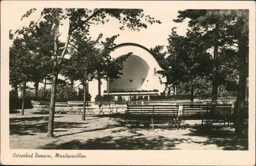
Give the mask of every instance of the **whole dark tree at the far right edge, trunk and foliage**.
<svg viewBox="0 0 256 166">
<path fill-rule="evenodd" d="M 244 107 L 246 97 L 246 77 L 248 77 L 248 55 L 249 55 L 249 10 L 232 10 L 231 17 L 235 17 L 237 22 L 236 35 L 233 43 L 238 45 L 239 57 L 239 89 L 234 110 L 235 119 L 235 133 L 237 137 L 243 136 L 244 125 Z"/>
</svg>

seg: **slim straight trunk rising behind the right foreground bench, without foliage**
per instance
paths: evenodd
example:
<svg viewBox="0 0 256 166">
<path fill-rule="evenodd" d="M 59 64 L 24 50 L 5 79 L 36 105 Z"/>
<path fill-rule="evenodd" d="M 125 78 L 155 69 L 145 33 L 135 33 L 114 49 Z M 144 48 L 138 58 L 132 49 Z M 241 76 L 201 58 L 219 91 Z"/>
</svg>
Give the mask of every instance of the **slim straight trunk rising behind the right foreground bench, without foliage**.
<svg viewBox="0 0 256 166">
<path fill-rule="evenodd" d="M 214 43 L 214 77 L 212 80 L 212 102 L 217 101 L 218 97 L 218 48 L 219 48 L 219 24 L 216 23 L 215 27 L 215 43 Z"/>
</svg>

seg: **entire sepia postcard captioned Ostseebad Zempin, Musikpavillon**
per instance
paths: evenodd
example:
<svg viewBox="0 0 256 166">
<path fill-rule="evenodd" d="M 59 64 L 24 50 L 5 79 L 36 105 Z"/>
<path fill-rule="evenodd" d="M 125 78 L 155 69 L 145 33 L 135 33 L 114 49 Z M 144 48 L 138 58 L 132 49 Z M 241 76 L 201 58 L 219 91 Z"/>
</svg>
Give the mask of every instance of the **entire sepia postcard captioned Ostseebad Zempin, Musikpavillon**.
<svg viewBox="0 0 256 166">
<path fill-rule="evenodd" d="M 11 159 L 180 150 L 185 160 L 194 150 L 255 150 L 255 2 L 212 9 L 185 1 L 43 2 L 5 2 L 13 12 L 1 12 L 9 32 L 1 129 L 9 128 Z"/>
</svg>

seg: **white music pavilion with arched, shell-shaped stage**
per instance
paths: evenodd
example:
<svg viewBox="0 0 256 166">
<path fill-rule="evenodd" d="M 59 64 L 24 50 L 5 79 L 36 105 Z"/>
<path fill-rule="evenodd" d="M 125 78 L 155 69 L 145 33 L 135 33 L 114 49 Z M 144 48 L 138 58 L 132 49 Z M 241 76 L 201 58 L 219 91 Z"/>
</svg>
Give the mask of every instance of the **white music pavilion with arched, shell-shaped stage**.
<svg viewBox="0 0 256 166">
<path fill-rule="evenodd" d="M 122 100 L 129 101 L 131 96 L 158 95 L 164 91 L 163 82 L 166 78 L 157 74 L 158 70 L 163 69 L 149 49 L 136 43 L 122 43 L 116 45 L 113 50 L 110 53 L 112 58 L 124 56 L 129 52 L 133 54 L 123 63 L 123 70 L 120 71 L 123 73 L 121 78 L 101 80 L 101 95 L 113 95 L 116 100 L 119 96 Z M 98 80 L 90 81 L 88 89 L 94 101 L 98 94 Z M 142 90 L 146 92 L 141 92 Z"/>
</svg>

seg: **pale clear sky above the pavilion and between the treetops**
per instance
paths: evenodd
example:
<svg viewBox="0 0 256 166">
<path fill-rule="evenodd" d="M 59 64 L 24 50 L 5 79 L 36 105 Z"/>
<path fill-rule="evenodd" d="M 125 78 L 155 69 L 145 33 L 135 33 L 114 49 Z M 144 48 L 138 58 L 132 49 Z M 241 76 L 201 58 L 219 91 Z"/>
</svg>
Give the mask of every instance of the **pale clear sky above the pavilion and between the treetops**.
<svg viewBox="0 0 256 166">
<path fill-rule="evenodd" d="M 13 7 L 17 8 L 15 14 L 10 15 L 9 19 L 12 20 L 9 24 L 9 29 L 15 31 L 22 26 L 29 25 L 30 21 L 37 21 L 40 18 L 40 12 L 42 8 L 37 8 L 36 12 L 29 17 L 25 17 L 23 20 L 20 18 L 30 9 L 26 7 Z M 105 24 L 91 25 L 90 36 L 96 39 L 100 33 L 103 34 L 103 38 L 111 37 L 113 35 L 119 34 L 120 36 L 116 39 L 115 43 L 125 43 L 133 42 L 141 44 L 148 49 L 155 47 L 156 45 L 167 45 L 168 35 L 172 32 L 173 27 L 177 27 L 177 32 L 179 35 L 184 35 L 187 31 L 187 22 L 175 23 L 173 19 L 177 18 L 178 10 L 174 9 L 162 9 L 162 10 L 151 10 L 144 8 L 144 14 L 150 15 L 155 19 L 160 20 L 162 23 L 158 24 L 148 24 L 147 29 L 141 29 L 141 31 L 132 31 L 125 29 L 123 31 L 119 30 L 121 24 L 118 23 L 116 18 L 109 17 L 110 21 Z M 60 40 L 65 41 L 68 31 L 68 22 L 63 22 L 63 26 L 60 27 L 61 32 Z"/>
</svg>

